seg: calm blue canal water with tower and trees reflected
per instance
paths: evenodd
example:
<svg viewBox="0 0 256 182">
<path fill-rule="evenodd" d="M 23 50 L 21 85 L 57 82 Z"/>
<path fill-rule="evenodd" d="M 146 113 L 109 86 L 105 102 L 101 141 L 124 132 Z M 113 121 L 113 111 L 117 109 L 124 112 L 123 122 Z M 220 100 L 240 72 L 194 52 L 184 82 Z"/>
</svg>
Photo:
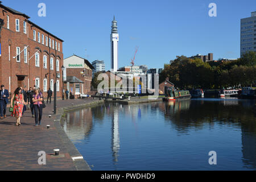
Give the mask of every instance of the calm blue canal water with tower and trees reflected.
<svg viewBox="0 0 256 182">
<path fill-rule="evenodd" d="M 104 104 L 61 123 L 92 170 L 255 170 L 254 100 Z M 209 152 L 216 152 L 216 165 Z"/>
</svg>

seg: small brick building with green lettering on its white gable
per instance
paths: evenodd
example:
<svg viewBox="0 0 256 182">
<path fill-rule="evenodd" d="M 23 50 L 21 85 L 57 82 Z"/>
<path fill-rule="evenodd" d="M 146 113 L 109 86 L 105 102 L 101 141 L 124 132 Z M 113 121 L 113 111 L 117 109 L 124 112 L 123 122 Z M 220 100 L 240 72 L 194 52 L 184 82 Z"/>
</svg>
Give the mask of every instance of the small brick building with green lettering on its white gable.
<svg viewBox="0 0 256 182">
<path fill-rule="evenodd" d="M 80 94 L 87 94 L 91 91 L 92 86 L 92 70 L 94 69 L 93 65 L 90 62 L 82 57 L 73 55 L 64 59 L 64 67 L 67 78 L 72 78 L 72 80 L 79 80 L 77 82 L 66 81 L 64 89 L 68 89 L 69 92 L 79 96 Z M 82 82 L 80 82 L 82 81 Z"/>
</svg>

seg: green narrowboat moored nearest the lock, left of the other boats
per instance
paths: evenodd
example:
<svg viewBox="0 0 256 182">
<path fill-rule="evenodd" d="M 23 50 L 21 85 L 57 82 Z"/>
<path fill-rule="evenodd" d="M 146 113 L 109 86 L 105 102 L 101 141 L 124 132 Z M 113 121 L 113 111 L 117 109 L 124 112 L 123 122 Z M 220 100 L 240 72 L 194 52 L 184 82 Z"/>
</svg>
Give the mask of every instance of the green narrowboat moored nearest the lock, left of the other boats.
<svg viewBox="0 0 256 182">
<path fill-rule="evenodd" d="M 187 100 L 191 99 L 191 94 L 188 90 L 176 90 L 174 86 L 165 87 L 165 101 Z"/>
</svg>

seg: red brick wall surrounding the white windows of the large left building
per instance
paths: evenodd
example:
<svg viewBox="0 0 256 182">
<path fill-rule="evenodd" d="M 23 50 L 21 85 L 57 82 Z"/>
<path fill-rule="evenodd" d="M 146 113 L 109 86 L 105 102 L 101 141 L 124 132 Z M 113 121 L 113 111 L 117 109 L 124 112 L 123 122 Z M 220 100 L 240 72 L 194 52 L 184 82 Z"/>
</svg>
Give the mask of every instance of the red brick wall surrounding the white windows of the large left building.
<svg viewBox="0 0 256 182">
<path fill-rule="evenodd" d="M 43 80 L 47 75 L 47 89 L 50 86 L 50 80 L 53 78 L 53 75 L 56 76 L 56 58 L 59 60 L 59 71 L 60 78 L 57 78 L 60 82 L 60 91 L 57 92 L 57 97 L 61 97 L 61 88 L 62 88 L 62 70 L 61 66 L 63 65 L 63 43 L 61 40 L 56 38 L 56 42 L 60 43 L 60 52 L 55 49 L 49 48 L 46 46 L 46 36 L 49 38 L 55 39 L 53 36 L 48 35 L 47 32 L 41 30 L 36 26 L 31 26 L 27 22 L 27 34 L 23 33 L 23 21 L 27 20 L 22 15 L 12 14 L 10 11 L 2 11 L 3 8 L 0 7 L 0 18 L 4 20 L 4 25 L 1 32 L 1 63 L 0 63 L 0 84 L 5 85 L 6 89 L 9 89 L 9 77 L 11 77 L 11 90 L 9 92 L 14 92 L 18 87 L 18 77 L 16 75 L 26 75 L 22 81 L 22 86 L 27 87 L 35 85 L 35 78 L 40 78 L 40 89 L 43 90 Z M 7 29 L 7 15 L 9 15 L 10 29 Z M 19 32 L 16 32 L 15 28 L 15 19 L 19 19 Z M 33 40 L 33 30 L 36 30 L 36 41 Z M 40 32 L 40 41 L 38 43 L 38 32 Z M 44 44 L 42 44 L 42 34 L 44 35 Z M 10 57 L 9 61 L 9 45 L 10 45 Z M 49 43 L 48 43 L 49 45 Z M 24 63 L 24 52 L 20 53 L 20 62 L 16 62 L 16 59 L 13 59 L 16 56 L 16 47 L 20 47 L 20 52 L 24 49 L 25 46 L 28 47 L 27 57 L 28 63 Z M 52 45 L 51 45 L 52 46 Z M 34 53 L 40 49 L 40 67 L 35 66 L 35 55 Z M 57 47 L 58 50 L 58 47 Z M 34 55 L 34 56 L 33 56 Z M 43 68 L 43 56 L 47 56 L 47 69 Z M 54 70 L 50 70 L 50 57 L 53 57 Z M 50 73 L 50 74 L 49 74 Z M 29 78 L 29 83 L 28 83 Z M 47 94 L 44 92 L 44 94 Z"/>
</svg>

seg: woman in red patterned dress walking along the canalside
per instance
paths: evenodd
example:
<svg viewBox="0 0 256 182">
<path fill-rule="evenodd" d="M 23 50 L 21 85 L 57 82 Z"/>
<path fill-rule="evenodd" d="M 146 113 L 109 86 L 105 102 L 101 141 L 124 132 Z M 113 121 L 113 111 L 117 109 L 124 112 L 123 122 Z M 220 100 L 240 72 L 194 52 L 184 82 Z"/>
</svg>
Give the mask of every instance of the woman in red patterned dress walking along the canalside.
<svg viewBox="0 0 256 182">
<path fill-rule="evenodd" d="M 13 97 L 11 97 L 11 107 L 14 107 L 13 113 L 11 113 L 11 116 L 16 117 L 16 124 L 15 124 L 16 126 L 20 125 L 20 118 L 22 117 L 24 104 L 25 104 L 25 101 L 22 94 L 22 89 L 19 87 L 15 90 Z"/>
</svg>

